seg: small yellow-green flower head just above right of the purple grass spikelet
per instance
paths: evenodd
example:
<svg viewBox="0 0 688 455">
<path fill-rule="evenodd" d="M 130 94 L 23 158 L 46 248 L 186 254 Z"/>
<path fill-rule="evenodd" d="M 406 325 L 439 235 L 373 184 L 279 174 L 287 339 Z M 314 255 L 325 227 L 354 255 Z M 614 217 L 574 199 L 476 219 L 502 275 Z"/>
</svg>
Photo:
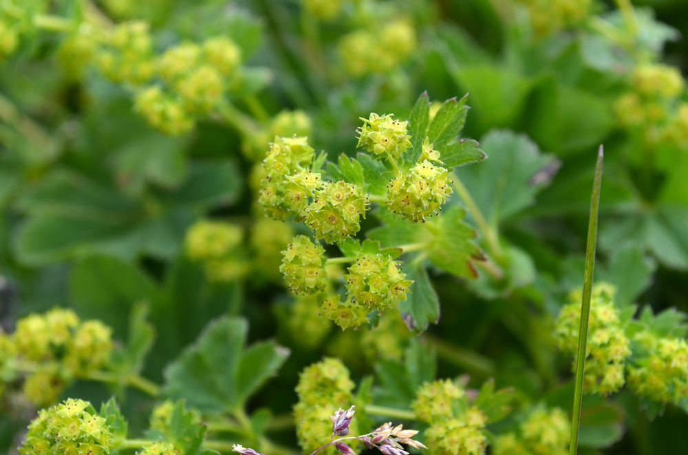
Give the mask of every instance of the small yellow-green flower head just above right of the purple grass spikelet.
<svg viewBox="0 0 688 455">
<path fill-rule="evenodd" d="M 418 388 L 411 407 L 419 420 L 433 423 L 452 417 L 455 401 L 465 394 L 464 389 L 451 379 L 425 382 Z"/>
</svg>

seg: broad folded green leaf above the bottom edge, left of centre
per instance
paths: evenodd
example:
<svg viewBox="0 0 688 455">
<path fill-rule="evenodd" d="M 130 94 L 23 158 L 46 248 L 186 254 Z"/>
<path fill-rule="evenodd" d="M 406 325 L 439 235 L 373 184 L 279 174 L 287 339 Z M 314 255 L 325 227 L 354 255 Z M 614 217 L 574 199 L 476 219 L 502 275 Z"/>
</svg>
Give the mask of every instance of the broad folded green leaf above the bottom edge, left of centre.
<svg viewBox="0 0 688 455">
<path fill-rule="evenodd" d="M 207 413 L 233 412 L 285 362 L 286 348 L 259 342 L 246 348 L 241 318 L 212 322 L 164 371 L 164 393 Z"/>
</svg>

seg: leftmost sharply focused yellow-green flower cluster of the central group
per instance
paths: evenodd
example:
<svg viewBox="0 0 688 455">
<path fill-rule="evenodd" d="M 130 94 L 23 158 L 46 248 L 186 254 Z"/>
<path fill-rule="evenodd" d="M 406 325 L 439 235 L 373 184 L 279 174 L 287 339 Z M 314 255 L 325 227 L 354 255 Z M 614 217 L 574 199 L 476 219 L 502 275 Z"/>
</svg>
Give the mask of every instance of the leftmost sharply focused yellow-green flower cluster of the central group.
<svg viewBox="0 0 688 455">
<path fill-rule="evenodd" d="M 258 198 L 268 216 L 303 217 L 308 198 L 321 186 L 320 174 L 310 172 L 314 155 L 307 137 L 275 137 L 261 166 L 264 178 Z"/>
</svg>

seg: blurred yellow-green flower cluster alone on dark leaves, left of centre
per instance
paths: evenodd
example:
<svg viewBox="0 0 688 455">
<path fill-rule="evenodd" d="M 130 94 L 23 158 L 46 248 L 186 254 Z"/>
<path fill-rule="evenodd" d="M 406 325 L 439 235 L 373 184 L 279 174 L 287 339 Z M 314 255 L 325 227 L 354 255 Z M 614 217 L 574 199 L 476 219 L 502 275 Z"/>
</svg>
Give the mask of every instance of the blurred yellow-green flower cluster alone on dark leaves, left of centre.
<svg viewBox="0 0 688 455">
<path fill-rule="evenodd" d="M 248 272 L 241 245 L 244 230 L 222 221 L 200 220 L 189 228 L 184 239 L 186 254 L 204 265 L 208 279 L 232 281 Z"/>
</svg>

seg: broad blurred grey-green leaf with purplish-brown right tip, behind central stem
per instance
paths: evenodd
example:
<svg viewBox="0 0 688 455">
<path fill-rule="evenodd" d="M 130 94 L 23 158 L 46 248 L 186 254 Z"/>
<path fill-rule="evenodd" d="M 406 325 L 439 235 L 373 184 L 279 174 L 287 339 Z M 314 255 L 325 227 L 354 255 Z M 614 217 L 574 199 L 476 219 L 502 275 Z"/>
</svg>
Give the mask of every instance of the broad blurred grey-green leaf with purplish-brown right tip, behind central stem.
<svg viewBox="0 0 688 455">
<path fill-rule="evenodd" d="M 488 221 L 504 221 L 533 205 L 559 168 L 554 157 L 541 155 L 525 135 L 492 131 L 481 144 L 490 158 L 455 173 Z"/>
</svg>

